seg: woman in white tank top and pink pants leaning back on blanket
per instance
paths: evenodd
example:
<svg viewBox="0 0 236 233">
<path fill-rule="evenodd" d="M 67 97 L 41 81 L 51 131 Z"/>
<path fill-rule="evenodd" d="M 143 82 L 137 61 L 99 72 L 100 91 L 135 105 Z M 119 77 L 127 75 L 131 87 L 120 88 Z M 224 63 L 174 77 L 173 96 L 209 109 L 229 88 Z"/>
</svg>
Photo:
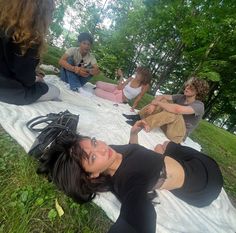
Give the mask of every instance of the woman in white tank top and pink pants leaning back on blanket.
<svg viewBox="0 0 236 233">
<path fill-rule="evenodd" d="M 96 83 L 95 95 L 117 103 L 126 103 L 135 98 L 131 111 L 137 107 L 139 101 L 149 89 L 151 73 L 145 67 L 136 69 L 135 78 L 128 78 L 124 81 L 121 69 L 117 71 L 120 80 L 118 85 L 98 81 Z"/>
</svg>

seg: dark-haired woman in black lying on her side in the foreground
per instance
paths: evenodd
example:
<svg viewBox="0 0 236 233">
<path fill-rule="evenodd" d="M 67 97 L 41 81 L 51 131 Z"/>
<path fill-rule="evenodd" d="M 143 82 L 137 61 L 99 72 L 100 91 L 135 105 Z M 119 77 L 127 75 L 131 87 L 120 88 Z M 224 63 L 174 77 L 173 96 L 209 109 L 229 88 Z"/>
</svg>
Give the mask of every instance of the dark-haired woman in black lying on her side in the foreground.
<svg viewBox="0 0 236 233">
<path fill-rule="evenodd" d="M 58 137 L 42 156 L 38 172 L 79 203 L 91 201 L 97 192 L 112 191 L 121 209 L 110 233 L 156 232 L 151 201 L 155 189 L 169 190 L 196 207 L 211 204 L 223 185 L 217 163 L 174 142 L 154 151 L 140 146 L 138 133 L 145 127 L 143 121 L 132 127 L 128 145 L 108 146 L 80 135 Z"/>
</svg>

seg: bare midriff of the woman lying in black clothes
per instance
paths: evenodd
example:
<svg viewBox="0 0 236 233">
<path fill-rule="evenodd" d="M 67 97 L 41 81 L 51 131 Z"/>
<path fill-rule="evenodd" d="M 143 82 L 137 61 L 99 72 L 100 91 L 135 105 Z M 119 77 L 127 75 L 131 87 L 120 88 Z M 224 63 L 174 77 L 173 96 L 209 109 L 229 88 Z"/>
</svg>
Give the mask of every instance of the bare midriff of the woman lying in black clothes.
<svg viewBox="0 0 236 233">
<path fill-rule="evenodd" d="M 185 173 L 182 165 L 169 156 L 164 159 L 167 178 L 159 189 L 173 190 L 184 184 Z"/>
</svg>

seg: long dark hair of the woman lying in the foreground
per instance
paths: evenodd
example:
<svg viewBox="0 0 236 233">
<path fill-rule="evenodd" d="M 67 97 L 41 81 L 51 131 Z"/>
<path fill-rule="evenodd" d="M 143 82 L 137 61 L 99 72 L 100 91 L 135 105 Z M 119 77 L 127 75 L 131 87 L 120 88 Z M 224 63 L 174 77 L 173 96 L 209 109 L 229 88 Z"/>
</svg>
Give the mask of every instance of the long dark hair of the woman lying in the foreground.
<svg viewBox="0 0 236 233">
<path fill-rule="evenodd" d="M 79 203 L 91 201 L 97 192 L 111 190 L 110 176 L 90 178 L 82 167 L 82 159 L 88 156 L 79 144 L 84 139 L 88 137 L 72 133 L 56 138 L 41 157 L 37 170 L 38 174 L 46 174 L 60 190 Z"/>
</svg>

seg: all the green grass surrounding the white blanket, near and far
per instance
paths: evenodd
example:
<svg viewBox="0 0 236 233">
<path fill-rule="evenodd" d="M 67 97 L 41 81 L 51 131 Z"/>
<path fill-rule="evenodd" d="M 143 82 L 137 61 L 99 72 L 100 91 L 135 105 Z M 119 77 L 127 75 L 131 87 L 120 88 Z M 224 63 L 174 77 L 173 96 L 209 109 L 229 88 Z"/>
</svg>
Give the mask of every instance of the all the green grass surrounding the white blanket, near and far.
<svg viewBox="0 0 236 233">
<path fill-rule="evenodd" d="M 43 63 L 58 67 L 63 51 L 49 47 Z M 112 82 L 101 73 L 94 77 Z M 153 96 L 146 94 L 138 108 Z M 191 138 L 223 172 L 225 189 L 236 200 L 236 136 L 202 121 Z M 36 174 L 37 162 L 0 127 L 0 233 L 104 233 L 111 221 L 95 204 L 78 205 Z M 59 217 L 55 200 L 65 214 Z"/>
</svg>

